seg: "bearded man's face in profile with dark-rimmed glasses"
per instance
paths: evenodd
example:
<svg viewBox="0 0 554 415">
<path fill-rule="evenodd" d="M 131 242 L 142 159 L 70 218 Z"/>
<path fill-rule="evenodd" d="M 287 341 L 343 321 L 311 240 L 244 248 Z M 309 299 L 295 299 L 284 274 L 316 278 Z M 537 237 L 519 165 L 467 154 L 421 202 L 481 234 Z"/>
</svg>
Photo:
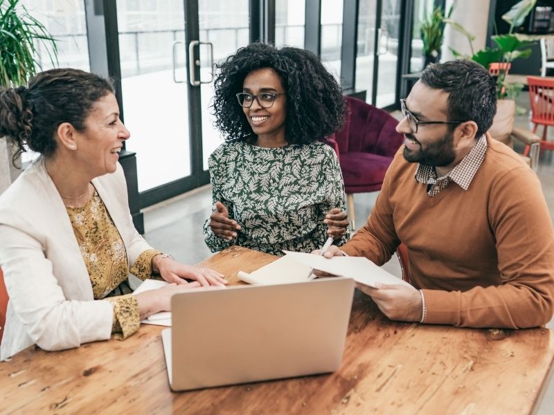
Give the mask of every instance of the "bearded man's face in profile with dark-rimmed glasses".
<svg viewBox="0 0 554 415">
<path fill-rule="evenodd" d="M 419 121 L 448 121 L 447 99 L 448 93 L 417 82 L 406 99 L 406 109 Z M 446 167 L 449 171 L 459 161 L 454 131 L 448 124 L 420 124 L 414 133 L 404 117 L 396 131 L 404 134 L 404 158 L 410 163 Z"/>
</svg>

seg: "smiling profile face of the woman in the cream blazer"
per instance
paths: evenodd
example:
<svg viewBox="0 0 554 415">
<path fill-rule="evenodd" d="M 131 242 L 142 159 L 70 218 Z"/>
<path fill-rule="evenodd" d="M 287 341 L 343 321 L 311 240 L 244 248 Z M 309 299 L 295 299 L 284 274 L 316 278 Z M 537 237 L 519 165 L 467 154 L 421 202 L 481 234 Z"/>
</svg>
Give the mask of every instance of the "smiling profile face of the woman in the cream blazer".
<svg viewBox="0 0 554 415">
<path fill-rule="evenodd" d="M 129 130 L 119 119 L 119 107 L 114 94 L 98 100 L 84 120 L 84 131 L 75 133 L 80 164 L 92 177 L 116 171 L 123 141 L 129 138 Z M 86 166 L 86 167 L 85 167 Z"/>
</svg>

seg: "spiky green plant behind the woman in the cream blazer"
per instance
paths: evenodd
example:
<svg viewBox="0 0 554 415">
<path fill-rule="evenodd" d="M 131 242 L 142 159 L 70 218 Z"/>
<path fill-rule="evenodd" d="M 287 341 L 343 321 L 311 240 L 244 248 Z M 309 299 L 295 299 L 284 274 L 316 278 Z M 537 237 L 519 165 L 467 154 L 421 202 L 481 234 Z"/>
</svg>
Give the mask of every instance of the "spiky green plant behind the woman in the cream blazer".
<svg viewBox="0 0 554 415">
<path fill-rule="evenodd" d="M 52 64 L 57 63 L 55 39 L 19 0 L 0 0 L 0 86 L 27 84 L 41 68 L 37 42 L 44 44 Z"/>
</svg>

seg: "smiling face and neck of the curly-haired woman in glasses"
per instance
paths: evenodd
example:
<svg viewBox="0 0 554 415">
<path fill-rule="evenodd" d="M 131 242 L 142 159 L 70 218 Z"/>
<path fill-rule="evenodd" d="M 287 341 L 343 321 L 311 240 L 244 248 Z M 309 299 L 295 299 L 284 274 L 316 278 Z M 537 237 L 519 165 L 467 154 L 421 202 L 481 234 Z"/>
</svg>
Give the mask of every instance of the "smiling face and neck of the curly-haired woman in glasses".
<svg viewBox="0 0 554 415">
<path fill-rule="evenodd" d="M 272 68 L 252 71 L 244 78 L 242 92 L 251 95 L 260 93 L 284 93 L 283 82 Z M 278 95 L 273 105 L 262 108 L 258 100 L 253 100 L 250 108 L 242 108 L 244 115 L 258 139 L 256 145 L 261 147 L 279 147 L 285 145 L 285 120 L 287 95 Z M 261 100 L 260 100 L 261 101 Z"/>
</svg>

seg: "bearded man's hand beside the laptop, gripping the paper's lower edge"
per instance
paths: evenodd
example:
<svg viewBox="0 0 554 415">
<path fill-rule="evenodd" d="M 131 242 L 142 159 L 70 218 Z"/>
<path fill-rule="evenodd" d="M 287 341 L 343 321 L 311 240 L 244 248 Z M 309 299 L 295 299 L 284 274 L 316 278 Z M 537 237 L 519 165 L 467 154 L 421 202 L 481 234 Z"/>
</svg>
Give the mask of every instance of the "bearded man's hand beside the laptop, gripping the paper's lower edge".
<svg viewBox="0 0 554 415">
<path fill-rule="evenodd" d="M 419 322 L 423 313 L 421 294 L 413 286 L 404 284 L 375 284 L 377 288 L 356 284 L 356 288 L 369 295 L 379 310 L 391 320 Z"/>
</svg>

